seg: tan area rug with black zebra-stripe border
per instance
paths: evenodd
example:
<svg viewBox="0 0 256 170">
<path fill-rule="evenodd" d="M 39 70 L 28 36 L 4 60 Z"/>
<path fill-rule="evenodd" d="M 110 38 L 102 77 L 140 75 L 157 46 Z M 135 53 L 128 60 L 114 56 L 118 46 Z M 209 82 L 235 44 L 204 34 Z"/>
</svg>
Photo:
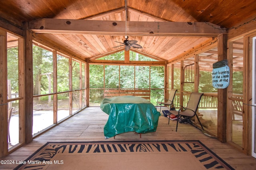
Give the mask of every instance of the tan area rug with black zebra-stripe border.
<svg viewBox="0 0 256 170">
<path fill-rule="evenodd" d="M 46 143 L 15 169 L 234 170 L 200 141 Z"/>
</svg>

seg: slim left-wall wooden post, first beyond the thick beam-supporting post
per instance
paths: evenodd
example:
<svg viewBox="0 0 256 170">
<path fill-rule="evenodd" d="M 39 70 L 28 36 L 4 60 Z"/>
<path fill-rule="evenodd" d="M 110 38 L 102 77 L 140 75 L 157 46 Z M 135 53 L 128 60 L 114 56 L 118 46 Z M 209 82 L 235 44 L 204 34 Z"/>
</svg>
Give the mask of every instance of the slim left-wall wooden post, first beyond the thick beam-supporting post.
<svg viewBox="0 0 256 170">
<path fill-rule="evenodd" d="M 53 56 L 53 124 L 58 123 L 58 96 L 57 96 L 57 51 L 52 51 Z"/>
</svg>

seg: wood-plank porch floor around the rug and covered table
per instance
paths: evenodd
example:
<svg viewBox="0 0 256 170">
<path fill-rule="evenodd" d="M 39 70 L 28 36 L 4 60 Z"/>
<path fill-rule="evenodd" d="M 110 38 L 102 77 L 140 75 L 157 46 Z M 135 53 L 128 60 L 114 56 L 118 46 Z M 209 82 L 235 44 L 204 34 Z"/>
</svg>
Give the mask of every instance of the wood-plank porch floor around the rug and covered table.
<svg viewBox="0 0 256 170">
<path fill-rule="evenodd" d="M 117 135 L 115 139 L 105 139 L 103 128 L 107 119 L 108 115 L 99 107 L 88 107 L 1 160 L 14 160 L 15 162 L 25 160 L 46 142 L 53 141 L 200 140 L 236 170 L 256 169 L 256 158 L 247 156 L 227 143 L 221 143 L 216 138 L 204 135 L 190 124 L 179 123 L 178 132 L 175 132 L 176 121 L 171 121 L 168 125 L 168 119 L 160 116 L 157 130 L 154 133 L 142 134 L 140 138 L 140 135 L 131 132 Z M 16 164 L 0 164 L 0 169 L 13 169 L 16 166 Z"/>
</svg>

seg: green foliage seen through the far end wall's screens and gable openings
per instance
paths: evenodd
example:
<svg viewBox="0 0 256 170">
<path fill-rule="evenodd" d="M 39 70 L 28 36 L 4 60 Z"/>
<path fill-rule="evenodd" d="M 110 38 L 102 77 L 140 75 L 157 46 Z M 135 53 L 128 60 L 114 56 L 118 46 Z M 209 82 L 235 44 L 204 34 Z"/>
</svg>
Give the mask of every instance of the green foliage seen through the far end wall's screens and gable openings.
<svg viewBox="0 0 256 170">
<path fill-rule="evenodd" d="M 131 51 L 130 51 L 131 52 Z M 136 61 L 155 61 L 143 55 L 134 55 L 131 57 Z M 124 54 L 123 54 L 124 55 Z M 110 56 L 111 59 L 120 60 L 120 53 Z M 103 58 L 101 58 L 103 59 Z M 108 56 L 104 59 L 109 59 Z M 104 74 L 105 69 L 105 74 Z M 123 89 L 153 89 L 151 90 L 151 99 L 156 104 L 157 98 L 164 96 L 164 66 L 129 66 L 129 65 L 90 65 L 90 103 L 97 105 L 103 99 L 103 86 L 105 88 L 123 88 Z M 134 82 L 135 81 L 135 82 Z M 120 86 L 120 87 L 119 87 Z M 92 89 L 94 88 L 94 89 Z M 101 88 L 101 89 L 96 89 Z"/>
</svg>

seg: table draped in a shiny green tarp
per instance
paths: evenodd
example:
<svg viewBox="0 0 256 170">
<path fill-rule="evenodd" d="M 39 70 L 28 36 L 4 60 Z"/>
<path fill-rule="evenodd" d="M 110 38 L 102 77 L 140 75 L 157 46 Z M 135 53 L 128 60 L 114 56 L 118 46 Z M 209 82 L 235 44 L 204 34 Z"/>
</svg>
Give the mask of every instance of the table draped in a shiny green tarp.
<svg viewBox="0 0 256 170">
<path fill-rule="evenodd" d="M 137 96 L 104 98 L 100 108 L 109 115 L 104 127 L 105 139 L 125 132 L 156 131 L 160 112 L 144 98 Z"/>
</svg>

